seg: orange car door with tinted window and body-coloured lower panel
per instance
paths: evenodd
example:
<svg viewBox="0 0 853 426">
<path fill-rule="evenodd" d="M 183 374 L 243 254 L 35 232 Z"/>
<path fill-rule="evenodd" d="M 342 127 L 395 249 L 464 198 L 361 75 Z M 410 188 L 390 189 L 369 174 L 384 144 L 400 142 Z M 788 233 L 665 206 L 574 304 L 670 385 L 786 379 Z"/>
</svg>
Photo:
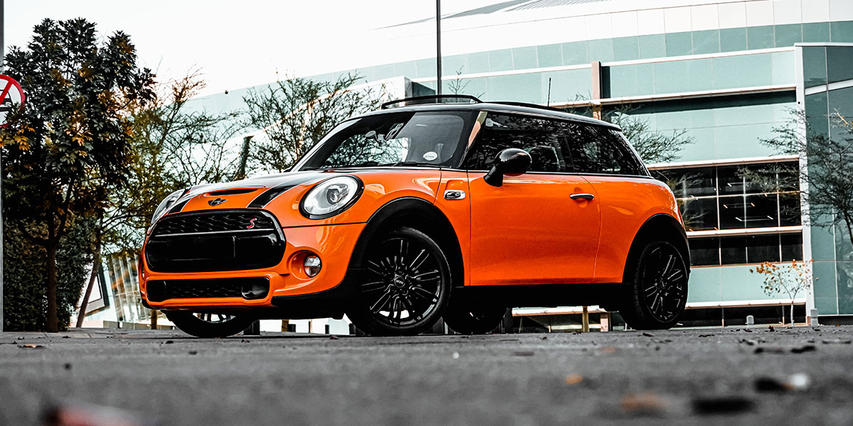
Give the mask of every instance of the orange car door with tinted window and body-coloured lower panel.
<svg viewBox="0 0 853 426">
<path fill-rule="evenodd" d="M 471 199 L 471 285 L 590 282 L 598 250 L 600 211 L 595 189 L 568 173 L 559 122 L 488 112 L 465 166 Z M 484 181 L 498 153 L 520 148 L 531 170 Z M 589 194 L 572 199 L 572 194 Z"/>
</svg>

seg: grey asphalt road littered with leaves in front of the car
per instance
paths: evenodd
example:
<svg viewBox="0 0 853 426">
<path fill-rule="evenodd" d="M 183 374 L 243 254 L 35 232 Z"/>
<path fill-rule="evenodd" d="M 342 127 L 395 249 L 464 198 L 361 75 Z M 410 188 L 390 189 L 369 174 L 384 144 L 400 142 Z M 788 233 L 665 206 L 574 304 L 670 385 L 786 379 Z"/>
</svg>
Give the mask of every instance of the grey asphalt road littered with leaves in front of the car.
<svg viewBox="0 0 853 426">
<path fill-rule="evenodd" d="M 853 327 L 826 325 L 216 340 L 3 333 L 0 424 L 42 424 L 53 412 L 93 424 L 850 425 L 851 340 Z"/>
</svg>

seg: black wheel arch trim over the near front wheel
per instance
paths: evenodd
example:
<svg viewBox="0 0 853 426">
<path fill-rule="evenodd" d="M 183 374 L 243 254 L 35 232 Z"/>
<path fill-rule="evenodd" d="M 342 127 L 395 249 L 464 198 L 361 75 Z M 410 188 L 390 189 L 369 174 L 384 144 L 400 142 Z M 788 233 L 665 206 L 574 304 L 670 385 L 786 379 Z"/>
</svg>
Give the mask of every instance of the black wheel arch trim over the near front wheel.
<svg viewBox="0 0 853 426">
<path fill-rule="evenodd" d="M 456 229 L 435 204 L 417 197 L 393 199 L 370 216 L 352 250 L 347 275 L 358 270 L 375 237 L 398 227 L 411 227 L 432 238 L 444 251 L 444 256 L 447 256 L 453 285 L 464 285 L 465 265 Z"/>
</svg>

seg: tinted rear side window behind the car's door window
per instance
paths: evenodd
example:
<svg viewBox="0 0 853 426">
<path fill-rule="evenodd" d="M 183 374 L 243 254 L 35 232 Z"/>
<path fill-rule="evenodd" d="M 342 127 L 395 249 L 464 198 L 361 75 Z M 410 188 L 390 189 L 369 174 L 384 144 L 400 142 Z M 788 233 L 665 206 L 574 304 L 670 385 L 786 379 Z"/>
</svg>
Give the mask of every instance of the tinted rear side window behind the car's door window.
<svg viewBox="0 0 853 426">
<path fill-rule="evenodd" d="M 647 176 L 645 166 L 618 131 L 580 123 L 564 123 L 563 128 L 577 173 Z"/>
</svg>

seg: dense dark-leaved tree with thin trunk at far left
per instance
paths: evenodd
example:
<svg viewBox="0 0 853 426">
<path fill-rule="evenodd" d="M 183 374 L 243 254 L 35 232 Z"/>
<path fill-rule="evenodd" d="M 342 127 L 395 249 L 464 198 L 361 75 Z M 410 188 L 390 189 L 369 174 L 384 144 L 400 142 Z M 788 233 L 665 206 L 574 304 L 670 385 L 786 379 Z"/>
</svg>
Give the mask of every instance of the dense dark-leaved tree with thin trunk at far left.
<svg viewBox="0 0 853 426">
<path fill-rule="evenodd" d="M 127 107 L 153 98 L 154 75 L 136 66 L 130 37 L 100 40 L 84 19 L 43 20 L 25 49 L 6 55 L 26 106 L 9 114 L 3 204 L 22 238 L 44 248 L 44 329 L 57 331 L 57 250 L 71 223 L 98 217 L 127 181 L 133 125 Z"/>
</svg>

